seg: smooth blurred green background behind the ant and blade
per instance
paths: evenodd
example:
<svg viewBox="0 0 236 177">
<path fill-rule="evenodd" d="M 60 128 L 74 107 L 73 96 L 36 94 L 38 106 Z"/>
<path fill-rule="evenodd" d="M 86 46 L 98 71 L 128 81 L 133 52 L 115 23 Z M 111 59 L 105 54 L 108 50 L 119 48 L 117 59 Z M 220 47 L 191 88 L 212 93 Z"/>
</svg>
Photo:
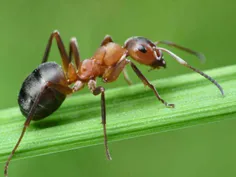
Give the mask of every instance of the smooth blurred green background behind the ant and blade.
<svg viewBox="0 0 236 177">
<path fill-rule="evenodd" d="M 55 29 L 60 31 L 66 46 L 71 37 L 77 37 L 83 59 L 92 56 L 103 37 L 110 34 L 120 44 L 130 36 L 139 35 L 151 40 L 175 41 L 201 51 L 207 57 L 204 65 L 195 57 L 173 49 L 201 70 L 235 64 L 235 7 L 233 0 L 1 1 L 0 108 L 17 106 L 21 83 L 40 63 L 48 37 Z M 165 58 L 168 65 L 165 70 L 148 72 L 149 68 L 140 66 L 148 79 L 191 72 L 170 57 Z M 61 62 L 55 43 L 50 60 Z M 139 83 L 128 70 L 132 80 Z M 124 85 L 120 78 L 104 86 L 109 89 Z M 78 94 L 85 92 L 88 90 Z M 109 144 L 112 161 L 105 159 L 103 145 L 14 161 L 9 174 L 10 177 L 233 177 L 236 176 L 235 125 L 236 120 L 231 120 L 113 142 Z M 0 172 L 3 166 L 0 164 Z"/>
</svg>

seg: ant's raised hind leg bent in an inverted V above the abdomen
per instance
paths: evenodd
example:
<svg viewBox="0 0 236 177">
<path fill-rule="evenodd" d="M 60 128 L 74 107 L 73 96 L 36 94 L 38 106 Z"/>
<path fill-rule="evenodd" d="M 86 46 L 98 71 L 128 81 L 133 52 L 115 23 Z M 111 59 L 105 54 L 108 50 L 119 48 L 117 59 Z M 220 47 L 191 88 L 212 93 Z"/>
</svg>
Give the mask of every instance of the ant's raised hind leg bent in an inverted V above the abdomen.
<svg viewBox="0 0 236 177">
<path fill-rule="evenodd" d="M 64 68 L 65 72 L 67 73 L 69 63 L 71 61 L 70 61 L 70 59 L 69 59 L 69 57 L 66 53 L 65 46 L 62 42 L 60 33 L 57 30 L 53 31 L 53 33 L 49 37 L 48 44 L 46 46 L 46 50 L 44 52 L 44 56 L 43 56 L 43 59 L 42 59 L 42 63 L 47 62 L 47 60 L 48 60 L 48 55 L 49 55 L 49 52 L 50 52 L 50 49 L 51 49 L 51 46 L 52 46 L 52 40 L 54 38 L 57 41 L 57 46 L 58 46 L 58 49 L 60 51 L 60 55 L 61 55 L 61 58 L 62 58 L 63 68 Z"/>
</svg>

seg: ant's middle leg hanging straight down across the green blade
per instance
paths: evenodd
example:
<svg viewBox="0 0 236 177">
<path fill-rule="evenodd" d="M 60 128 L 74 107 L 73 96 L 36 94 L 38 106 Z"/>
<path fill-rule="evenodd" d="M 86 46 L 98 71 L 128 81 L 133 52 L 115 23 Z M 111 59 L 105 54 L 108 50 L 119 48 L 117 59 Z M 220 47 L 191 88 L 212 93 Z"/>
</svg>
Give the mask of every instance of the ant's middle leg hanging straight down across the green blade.
<svg viewBox="0 0 236 177">
<path fill-rule="evenodd" d="M 105 89 L 101 86 L 96 87 L 95 80 L 90 80 L 88 82 L 88 87 L 93 93 L 93 95 L 101 94 L 101 113 L 102 113 L 102 125 L 103 125 L 103 134 L 104 134 L 104 146 L 105 146 L 107 159 L 112 160 L 110 152 L 109 152 L 109 148 L 107 145 Z"/>
</svg>

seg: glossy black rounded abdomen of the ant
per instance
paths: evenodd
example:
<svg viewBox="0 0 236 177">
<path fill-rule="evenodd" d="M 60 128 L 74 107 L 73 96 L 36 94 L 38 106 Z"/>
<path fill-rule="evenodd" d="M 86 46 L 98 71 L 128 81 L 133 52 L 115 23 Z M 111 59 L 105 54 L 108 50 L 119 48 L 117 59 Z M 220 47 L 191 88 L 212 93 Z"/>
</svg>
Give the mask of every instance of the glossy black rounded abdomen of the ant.
<svg viewBox="0 0 236 177">
<path fill-rule="evenodd" d="M 42 88 L 48 83 L 66 85 L 66 78 L 61 67 L 55 62 L 47 62 L 39 65 L 23 82 L 18 104 L 22 114 L 27 118 L 28 114 Z M 40 96 L 32 120 L 43 119 L 56 111 L 66 95 L 56 89 L 46 87 Z"/>
</svg>

